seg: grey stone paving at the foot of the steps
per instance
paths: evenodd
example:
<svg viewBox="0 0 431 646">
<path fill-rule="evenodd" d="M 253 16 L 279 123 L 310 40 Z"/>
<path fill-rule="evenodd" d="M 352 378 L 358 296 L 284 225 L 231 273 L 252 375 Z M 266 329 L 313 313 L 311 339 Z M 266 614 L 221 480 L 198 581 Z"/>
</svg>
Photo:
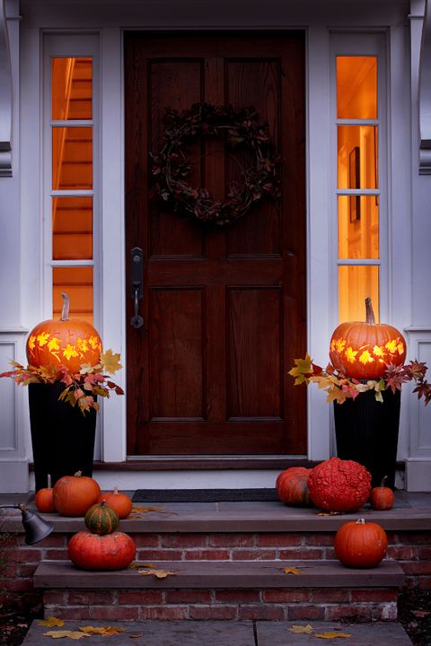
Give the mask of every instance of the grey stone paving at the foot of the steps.
<svg viewBox="0 0 431 646">
<path fill-rule="evenodd" d="M 82 621 L 66 621 L 61 628 L 47 628 L 38 622 L 31 624 L 31 629 L 22 646 L 46 646 L 47 637 L 44 633 L 60 630 L 79 631 L 84 626 Z M 88 624 L 87 624 L 88 625 Z M 107 625 L 107 622 L 92 621 L 92 626 Z M 179 643 L 187 646 L 304 646 L 325 642 L 328 644 L 342 642 L 339 638 L 319 640 L 316 635 L 322 633 L 347 633 L 351 637 L 345 642 L 355 646 L 412 646 L 408 634 L 400 624 L 373 623 L 373 624 L 340 624 L 336 622 L 312 622 L 312 632 L 292 633 L 294 625 L 307 624 L 293 622 L 109 622 L 109 625 L 123 628 L 118 634 L 110 635 L 103 639 L 101 635 L 94 634 L 84 639 L 85 646 L 99 646 L 101 643 L 110 643 L 110 646 L 124 646 L 133 642 L 136 646 L 178 646 Z"/>
</svg>

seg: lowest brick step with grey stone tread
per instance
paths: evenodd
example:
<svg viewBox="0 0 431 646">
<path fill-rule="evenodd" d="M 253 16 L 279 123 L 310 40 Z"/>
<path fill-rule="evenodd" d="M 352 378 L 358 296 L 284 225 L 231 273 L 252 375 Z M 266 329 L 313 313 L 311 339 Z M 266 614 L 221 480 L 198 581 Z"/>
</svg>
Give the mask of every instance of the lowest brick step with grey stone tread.
<svg viewBox="0 0 431 646">
<path fill-rule="evenodd" d="M 137 568 L 86 572 L 67 561 L 42 562 L 34 585 L 46 616 L 112 620 L 394 621 L 404 582 L 391 559 L 353 570 L 335 561 L 153 561 Z M 286 573 L 295 567 L 300 572 Z"/>
</svg>

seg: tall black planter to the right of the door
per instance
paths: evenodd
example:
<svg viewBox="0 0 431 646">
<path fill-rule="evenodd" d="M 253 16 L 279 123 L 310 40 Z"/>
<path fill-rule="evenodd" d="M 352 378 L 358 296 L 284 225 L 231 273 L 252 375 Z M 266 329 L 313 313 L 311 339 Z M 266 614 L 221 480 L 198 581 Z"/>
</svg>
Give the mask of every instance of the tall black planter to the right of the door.
<svg viewBox="0 0 431 646">
<path fill-rule="evenodd" d="M 393 489 L 400 426 L 400 390 L 383 391 L 383 403 L 367 390 L 344 404 L 334 402 L 337 455 L 364 465 L 371 473 L 373 486 L 388 476 L 386 486 Z"/>
</svg>

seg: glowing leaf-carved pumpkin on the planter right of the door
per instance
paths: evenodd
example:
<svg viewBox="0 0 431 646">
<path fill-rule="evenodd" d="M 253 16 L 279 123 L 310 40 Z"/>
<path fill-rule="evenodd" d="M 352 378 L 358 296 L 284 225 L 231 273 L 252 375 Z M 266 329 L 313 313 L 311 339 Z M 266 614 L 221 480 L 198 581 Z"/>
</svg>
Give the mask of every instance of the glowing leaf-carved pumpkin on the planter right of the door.
<svg viewBox="0 0 431 646">
<path fill-rule="evenodd" d="M 347 377 L 372 380 L 383 377 L 387 363 L 406 359 L 404 336 L 387 323 L 375 323 L 373 305 L 365 299 L 366 320 L 341 323 L 330 339 L 330 361 Z"/>
</svg>

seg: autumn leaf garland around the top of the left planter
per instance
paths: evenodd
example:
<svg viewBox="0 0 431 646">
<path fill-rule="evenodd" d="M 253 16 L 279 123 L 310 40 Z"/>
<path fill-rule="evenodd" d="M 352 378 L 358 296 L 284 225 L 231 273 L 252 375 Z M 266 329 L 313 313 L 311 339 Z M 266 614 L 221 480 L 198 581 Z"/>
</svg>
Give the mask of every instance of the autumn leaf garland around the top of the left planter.
<svg viewBox="0 0 431 646">
<path fill-rule="evenodd" d="M 24 367 L 21 363 L 12 361 L 10 363 L 13 370 L 0 373 L 0 377 L 9 377 L 21 386 L 61 382 L 65 389 L 59 398 L 71 406 L 78 406 L 85 414 L 91 408 L 99 410 L 96 397 L 110 397 L 112 392 L 116 395 L 124 394 L 123 389 L 110 377 L 122 368 L 119 361 L 119 354 L 113 353 L 112 350 L 101 353 L 97 363 L 82 363 L 78 371 L 72 371 L 63 364 Z"/>
</svg>

